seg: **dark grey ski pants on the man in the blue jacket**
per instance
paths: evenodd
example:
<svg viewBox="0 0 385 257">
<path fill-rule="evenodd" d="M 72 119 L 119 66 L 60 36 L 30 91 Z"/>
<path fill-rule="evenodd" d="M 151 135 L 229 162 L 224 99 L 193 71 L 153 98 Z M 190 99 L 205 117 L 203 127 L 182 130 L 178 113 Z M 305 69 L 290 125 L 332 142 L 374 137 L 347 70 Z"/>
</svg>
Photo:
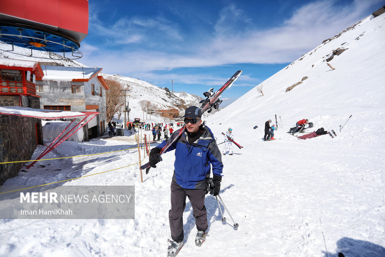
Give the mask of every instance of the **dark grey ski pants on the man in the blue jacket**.
<svg viewBox="0 0 385 257">
<path fill-rule="evenodd" d="M 183 241 L 183 211 L 186 208 L 186 196 L 188 196 L 192 215 L 195 218 L 196 228 L 206 232 L 207 211 L 204 206 L 205 189 L 184 189 L 174 180 L 171 181 L 171 210 L 169 211 L 169 221 L 171 238 L 176 242 Z"/>
</svg>

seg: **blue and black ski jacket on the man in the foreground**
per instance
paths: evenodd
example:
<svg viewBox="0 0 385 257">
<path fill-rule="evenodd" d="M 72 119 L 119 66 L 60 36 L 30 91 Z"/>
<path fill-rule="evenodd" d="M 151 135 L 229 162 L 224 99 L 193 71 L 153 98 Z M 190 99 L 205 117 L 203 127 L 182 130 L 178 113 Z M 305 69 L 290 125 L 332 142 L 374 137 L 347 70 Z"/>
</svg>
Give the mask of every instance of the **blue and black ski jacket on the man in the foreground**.
<svg viewBox="0 0 385 257">
<path fill-rule="evenodd" d="M 211 130 L 203 125 L 204 132 L 191 145 L 188 142 L 187 132 L 167 149 L 175 150 L 174 176 L 172 179 L 181 188 L 206 189 L 205 179 L 210 176 L 211 166 L 213 174 L 221 176 L 223 171 L 221 151 L 216 144 Z M 175 132 L 177 134 L 177 132 Z M 162 148 L 164 140 L 157 147 Z M 211 164 L 211 166 L 210 166 Z"/>
</svg>

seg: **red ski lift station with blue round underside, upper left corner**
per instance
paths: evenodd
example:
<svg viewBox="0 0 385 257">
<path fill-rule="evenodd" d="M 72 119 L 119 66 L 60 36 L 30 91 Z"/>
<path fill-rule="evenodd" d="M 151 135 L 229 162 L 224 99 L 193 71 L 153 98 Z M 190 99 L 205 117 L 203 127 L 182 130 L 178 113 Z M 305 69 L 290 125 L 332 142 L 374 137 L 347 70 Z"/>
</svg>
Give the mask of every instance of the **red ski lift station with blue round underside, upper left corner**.
<svg viewBox="0 0 385 257">
<path fill-rule="evenodd" d="M 88 33 L 88 0 L 2 0 L 0 40 L 13 46 L 47 51 L 47 59 L 79 59 L 80 42 Z M 65 56 L 65 54 L 67 56 Z M 17 54 L 17 53 L 16 53 Z"/>
</svg>

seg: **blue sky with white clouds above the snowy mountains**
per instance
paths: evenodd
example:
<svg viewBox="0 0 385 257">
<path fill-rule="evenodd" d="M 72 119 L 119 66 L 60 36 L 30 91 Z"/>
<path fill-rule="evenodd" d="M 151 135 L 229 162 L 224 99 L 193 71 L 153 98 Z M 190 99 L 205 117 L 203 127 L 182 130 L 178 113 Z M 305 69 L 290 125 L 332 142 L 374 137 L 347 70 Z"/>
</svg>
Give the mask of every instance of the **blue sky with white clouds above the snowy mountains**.
<svg viewBox="0 0 385 257">
<path fill-rule="evenodd" d="M 90 0 L 79 61 L 199 96 L 239 69 L 221 107 L 382 7 L 382 0 Z"/>
</svg>

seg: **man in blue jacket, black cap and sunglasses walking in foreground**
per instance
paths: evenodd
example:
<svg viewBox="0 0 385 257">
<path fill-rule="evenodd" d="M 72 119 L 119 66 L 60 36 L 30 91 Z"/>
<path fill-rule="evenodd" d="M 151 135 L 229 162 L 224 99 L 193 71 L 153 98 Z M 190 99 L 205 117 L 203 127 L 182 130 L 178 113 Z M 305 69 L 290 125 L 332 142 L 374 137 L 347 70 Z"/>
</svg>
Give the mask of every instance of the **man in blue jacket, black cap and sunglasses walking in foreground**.
<svg viewBox="0 0 385 257">
<path fill-rule="evenodd" d="M 171 181 L 171 210 L 169 211 L 172 241 L 169 240 L 171 245 L 168 248 L 168 256 L 175 256 L 183 246 L 183 211 L 186 208 L 186 197 L 190 200 L 198 229 L 195 244 L 201 246 L 206 239 L 208 222 L 204 197 L 209 191 L 208 178 L 211 167 L 214 187 L 210 187 L 210 194 L 217 196 L 221 188 L 223 170 L 221 152 L 211 130 L 201 125 L 201 117 L 202 112 L 198 107 L 187 108 L 182 117 L 186 123 L 184 134 L 167 149 L 167 152 L 175 150 L 174 176 Z M 156 167 L 156 164 L 162 161 L 159 154 L 165 144 L 166 140 L 151 150 L 149 156 L 151 167 Z"/>
</svg>

